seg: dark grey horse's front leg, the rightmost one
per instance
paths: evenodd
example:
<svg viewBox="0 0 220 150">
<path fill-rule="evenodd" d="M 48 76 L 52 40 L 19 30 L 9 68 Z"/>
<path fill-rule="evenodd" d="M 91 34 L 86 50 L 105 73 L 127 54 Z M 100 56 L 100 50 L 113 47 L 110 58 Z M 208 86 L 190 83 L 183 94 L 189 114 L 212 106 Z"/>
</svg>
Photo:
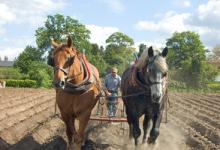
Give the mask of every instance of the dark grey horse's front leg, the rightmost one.
<svg viewBox="0 0 220 150">
<path fill-rule="evenodd" d="M 154 144 L 156 142 L 157 137 L 159 136 L 159 128 L 162 119 L 162 111 L 157 109 L 153 114 L 153 126 L 150 132 L 150 137 L 148 138 L 148 143 Z"/>
</svg>

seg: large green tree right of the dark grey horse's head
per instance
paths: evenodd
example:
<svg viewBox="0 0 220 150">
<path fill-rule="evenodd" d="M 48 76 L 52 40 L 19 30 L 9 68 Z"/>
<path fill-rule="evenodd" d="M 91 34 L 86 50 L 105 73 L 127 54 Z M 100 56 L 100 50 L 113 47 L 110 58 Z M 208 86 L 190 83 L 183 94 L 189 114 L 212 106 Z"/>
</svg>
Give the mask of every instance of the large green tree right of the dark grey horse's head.
<svg viewBox="0 0 220 150">
<path fill-rule="evenodd" d="M 175 32 L 166 44 L 170 47 L 169 68 L 181 69 L 180 76 L 174 76 L 174 78 L 178 78 L 192 87 L 203 86 L 214 79 L 217 72 L 206 62 L 206 50 L 198 34 L 190 31 Z M 206 70 L 211 76 L 207 76 Z"/>
</svg>

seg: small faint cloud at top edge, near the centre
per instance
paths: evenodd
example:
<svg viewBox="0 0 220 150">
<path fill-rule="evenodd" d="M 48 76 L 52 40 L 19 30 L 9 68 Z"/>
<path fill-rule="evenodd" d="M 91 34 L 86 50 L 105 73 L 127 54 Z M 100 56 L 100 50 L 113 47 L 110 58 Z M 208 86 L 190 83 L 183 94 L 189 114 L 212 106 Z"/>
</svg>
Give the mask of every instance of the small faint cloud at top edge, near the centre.
<svg viewBox="0 0 220 150">
<path fill-rule="evenodd" d="M 115 13 L 122 12 L 125 9 L 121 0 L 98 0 L 98 1 L 106 4 Z"/>
</svg>

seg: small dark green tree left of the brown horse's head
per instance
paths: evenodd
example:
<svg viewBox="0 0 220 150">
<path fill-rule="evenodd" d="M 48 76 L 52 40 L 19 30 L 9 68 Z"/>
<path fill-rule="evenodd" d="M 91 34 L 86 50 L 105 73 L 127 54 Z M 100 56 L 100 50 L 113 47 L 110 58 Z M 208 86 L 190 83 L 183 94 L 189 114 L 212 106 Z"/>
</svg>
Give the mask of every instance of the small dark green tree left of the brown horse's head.
<svg viewBox="0 0 220 150">
<path fill-rule="evenodd" d="M 27 74 L 33 61 L 43 61 L 42 53 L 35 47 L 26 46 L 24 51 L 15 60 L 14 67 L 19 68 L 21 73 Z"/>
</svg>

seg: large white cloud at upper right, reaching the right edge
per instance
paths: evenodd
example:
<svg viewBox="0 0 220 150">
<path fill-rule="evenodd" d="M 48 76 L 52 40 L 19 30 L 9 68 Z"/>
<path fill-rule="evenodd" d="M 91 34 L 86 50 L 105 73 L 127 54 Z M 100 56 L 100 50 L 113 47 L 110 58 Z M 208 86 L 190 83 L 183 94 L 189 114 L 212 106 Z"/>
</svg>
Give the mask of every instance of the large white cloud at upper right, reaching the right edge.
<svg viewBox="0 0 220 150">
<path fill-rule="evenodd" d="M 220 0 L 209 0 L 198 6 L 193 13 L 167 12 L 158 22 L 141 20 L 135 24 L 137 30 L 156 32 L 170 37 L 175 31 L 194 31 L 199 33 L 206 47 L 214 47 L 220 42 Z M 158 19 L 158 18 L 157 18 Z"/>
</svg>

